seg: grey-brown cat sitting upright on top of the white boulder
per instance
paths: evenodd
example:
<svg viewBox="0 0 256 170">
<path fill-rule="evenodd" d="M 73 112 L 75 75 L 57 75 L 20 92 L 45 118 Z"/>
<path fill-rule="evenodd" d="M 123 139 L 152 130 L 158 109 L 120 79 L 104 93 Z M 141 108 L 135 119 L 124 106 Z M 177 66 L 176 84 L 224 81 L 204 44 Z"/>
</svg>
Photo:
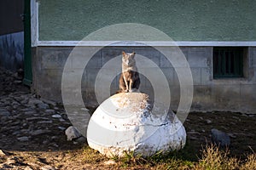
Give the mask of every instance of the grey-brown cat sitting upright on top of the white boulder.
<svg viewBox="0 0 256 170">
<path fill-rule="evenodd" d="M 135 92 L 140 86 L 140 77 L 137 72 L 135 53 L 122 53 L 122 73 L 119 77 L 119 91 L 117 93 Z"/>
</svg>

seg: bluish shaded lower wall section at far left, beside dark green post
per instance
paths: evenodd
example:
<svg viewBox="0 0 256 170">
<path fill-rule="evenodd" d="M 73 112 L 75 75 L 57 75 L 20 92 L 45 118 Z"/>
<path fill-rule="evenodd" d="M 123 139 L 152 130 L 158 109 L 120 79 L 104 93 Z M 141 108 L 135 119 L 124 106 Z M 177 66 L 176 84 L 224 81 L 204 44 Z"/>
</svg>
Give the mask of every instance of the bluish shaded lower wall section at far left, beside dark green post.
<svg viewBox="0 0 256 170">
<path fill-rule="evenodd" d="M 24 32 L 0 36 L 0 66 L 17 71 L 23 69 Z"/>
</svg>

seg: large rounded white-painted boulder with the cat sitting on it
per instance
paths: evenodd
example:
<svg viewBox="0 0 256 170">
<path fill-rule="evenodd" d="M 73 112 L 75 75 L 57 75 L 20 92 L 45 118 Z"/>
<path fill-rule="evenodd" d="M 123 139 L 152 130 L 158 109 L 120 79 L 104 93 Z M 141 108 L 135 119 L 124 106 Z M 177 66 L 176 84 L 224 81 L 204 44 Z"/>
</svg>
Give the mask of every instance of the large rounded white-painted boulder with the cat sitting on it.
<svg viewBox="0 0 256 170">
<path fill-rule="evenodd" d="M 180 150 L 186 142 L 182 122 L 173 112 L 150 108 L 148 95 L 115 94 L 106 99 L 90 118 L 87 140 L 91 148 L 103 155 L 124 156 L 124 151 L 151 156 Z"/>
</svg>

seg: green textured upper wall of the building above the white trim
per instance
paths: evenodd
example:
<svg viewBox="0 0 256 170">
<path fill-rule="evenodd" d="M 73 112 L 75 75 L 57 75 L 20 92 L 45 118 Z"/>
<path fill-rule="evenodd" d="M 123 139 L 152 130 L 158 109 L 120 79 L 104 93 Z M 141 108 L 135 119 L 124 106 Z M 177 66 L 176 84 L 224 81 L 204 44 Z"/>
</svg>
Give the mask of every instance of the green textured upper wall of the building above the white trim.
<svg viewBox="0 0 256 170">
<path fill-rule="evenodd" d="M 104 26 L 139 23 L 175 41 L 255 41 L 255 0 L 38 0 L 39 40 L 76 41 Z"/>
</svg>

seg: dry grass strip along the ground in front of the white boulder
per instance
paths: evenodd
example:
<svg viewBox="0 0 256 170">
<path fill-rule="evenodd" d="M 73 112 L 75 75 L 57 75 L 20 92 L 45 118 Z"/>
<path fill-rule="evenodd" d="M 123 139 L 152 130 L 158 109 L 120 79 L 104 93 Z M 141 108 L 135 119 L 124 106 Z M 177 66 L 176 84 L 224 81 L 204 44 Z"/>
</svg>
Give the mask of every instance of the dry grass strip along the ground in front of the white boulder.
<svg viewBox="0 0 256 170">
<path fill-rule="evenodd" d="M 247 156 L 241 161 L 239 158 L 230 156 L 229 150 L 220 150 L 218 146 L 209 144 L 201 151 L 198 161 L 188 161 L 183 152 L 172 152 L 162 155 L 160 152 L 154 156 L 143 158 L 126 154 L 122 158 L 114 157 L 116 166 L 128 169 L 202 169 L 202 170 L 253 170 L 256 169 L 256 154 Z"/>
</svg>

